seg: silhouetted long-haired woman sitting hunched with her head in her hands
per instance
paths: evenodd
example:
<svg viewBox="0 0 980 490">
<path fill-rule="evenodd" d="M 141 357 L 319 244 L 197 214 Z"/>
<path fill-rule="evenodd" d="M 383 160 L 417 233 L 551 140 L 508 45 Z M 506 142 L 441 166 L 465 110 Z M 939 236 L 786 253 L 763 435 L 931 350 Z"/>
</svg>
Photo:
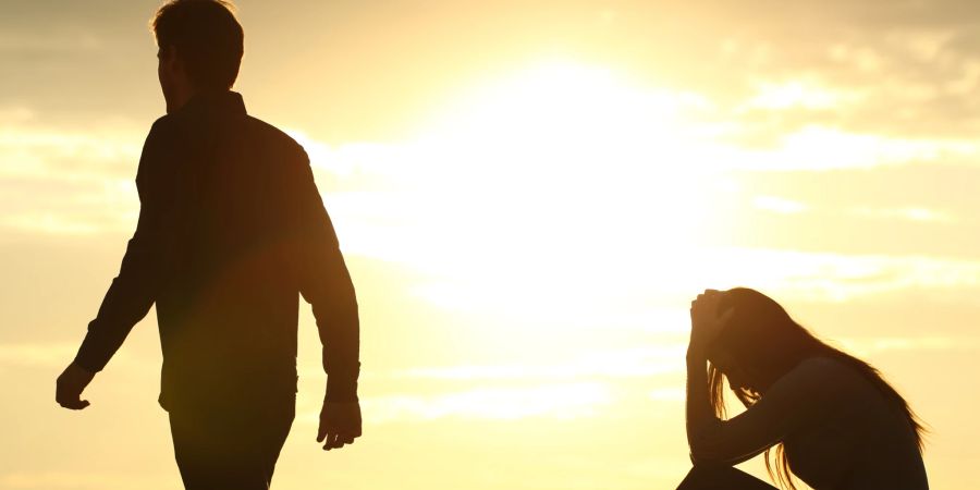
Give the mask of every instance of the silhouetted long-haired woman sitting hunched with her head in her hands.
<svg viewBox="0 0 980 490">
<path fill-rule="evenodd" d="M 691 303 L 687 440 L 678 490 L 773 489 L 732 468 L 765 452 L 773 481 L 816 490 L 928 489 L 922 432 L 877 369 L 817 340 L 754 290 L 708 290 Z M 725 419 L 724 379 L 746 411 Z M 776 448 L 776 477 L 769 451 Z"/>
</svg>

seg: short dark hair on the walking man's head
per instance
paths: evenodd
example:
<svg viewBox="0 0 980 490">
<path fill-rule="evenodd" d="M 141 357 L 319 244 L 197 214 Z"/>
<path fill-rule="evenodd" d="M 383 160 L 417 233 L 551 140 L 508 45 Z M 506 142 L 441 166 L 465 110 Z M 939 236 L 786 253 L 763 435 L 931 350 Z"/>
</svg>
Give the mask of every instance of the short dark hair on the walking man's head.
<svg viewBox="0 0 980 490">
<path fill-rule="evenodd" d="M 242 64 L 242 25 L 225 0 L 170 0 L 154 15 L 160 50 L 175 49 L 197 89 L 231 88 Z"/>
</svg>

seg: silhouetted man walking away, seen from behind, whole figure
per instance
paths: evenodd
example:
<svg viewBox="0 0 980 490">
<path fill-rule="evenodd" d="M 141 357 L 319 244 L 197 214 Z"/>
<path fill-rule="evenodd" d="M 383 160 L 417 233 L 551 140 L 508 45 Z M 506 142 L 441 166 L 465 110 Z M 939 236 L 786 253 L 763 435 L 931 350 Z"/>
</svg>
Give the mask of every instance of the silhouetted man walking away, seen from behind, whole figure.
<svg viewBox="0 0 980 490">
<path fill-rule="evenodd" d="M 230 91 L 243 53 L 231 5 L 173 0 L 152 26 L 167 115 L 139 159 L 136 232 L 57 400 L 88 406 L 82 391 L 156 303 L 185 487 L 265 489 L 295 415 L 299 294 L 328 373 L 317 441 L 360 436 L 354 287 L 305 151 Z"/>
</svg>

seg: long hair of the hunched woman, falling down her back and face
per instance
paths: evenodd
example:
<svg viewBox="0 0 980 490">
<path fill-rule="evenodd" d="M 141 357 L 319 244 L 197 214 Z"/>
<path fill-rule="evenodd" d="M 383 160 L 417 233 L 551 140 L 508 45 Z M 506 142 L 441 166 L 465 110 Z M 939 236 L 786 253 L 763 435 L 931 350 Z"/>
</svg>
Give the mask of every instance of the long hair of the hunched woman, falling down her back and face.
<svg viewBox="0 0 980 490">
<path fill-rule="evenodd" d="M 807 329 L 794 321 L 779 303 L 769 296 L 748 287 L 736 287 L 723 293 L 718 311 L 735 308 L 732 319 L 713 343 L 713 348 L 725 351 L 743 369 L 782 375 L 796 367 L 800 360 L 816 355 L 832 357 L 853 367 L 868 379 L 893 406 L 899 409 L 911 426 L 916 445 L 922 452 L 926 428 L 919 417 L 908 406 L 908 402 L 885 381 L 881 372 L 857 357 L 834 348 L 813 336 Z M 710 360 L 710 356 L 709 356 Z M 711 405 L 720 418 L 725 418 L 724 401 L 725 375 L 709 362 L 708 390 Z M 759 401 L 762 394 L 748 388 L 732 387 L 735 397 L 746 407 Z M 769 460 L 765 450 L 765 470 L 781 487 L 796 490 L 793 485 L 789 464 L 783 443 L 775 446 L 775 464 Z M 773 466 L 775 475 L 773 475 Z"/>
</svg>

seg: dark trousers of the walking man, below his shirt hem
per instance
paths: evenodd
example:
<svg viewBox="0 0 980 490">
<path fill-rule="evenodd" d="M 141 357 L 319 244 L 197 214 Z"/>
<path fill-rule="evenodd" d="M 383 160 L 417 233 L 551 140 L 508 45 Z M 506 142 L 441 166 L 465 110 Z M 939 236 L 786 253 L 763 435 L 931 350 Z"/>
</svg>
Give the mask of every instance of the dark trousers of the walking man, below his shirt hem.
<svg viewBox="0 0 980 490">
<path fill-rule="evenodd" d="M 295 416 L 295 401 L 246 411 L 170 412 L 170 431 L 187 490 L 268 489 Z"/>
</svg>

